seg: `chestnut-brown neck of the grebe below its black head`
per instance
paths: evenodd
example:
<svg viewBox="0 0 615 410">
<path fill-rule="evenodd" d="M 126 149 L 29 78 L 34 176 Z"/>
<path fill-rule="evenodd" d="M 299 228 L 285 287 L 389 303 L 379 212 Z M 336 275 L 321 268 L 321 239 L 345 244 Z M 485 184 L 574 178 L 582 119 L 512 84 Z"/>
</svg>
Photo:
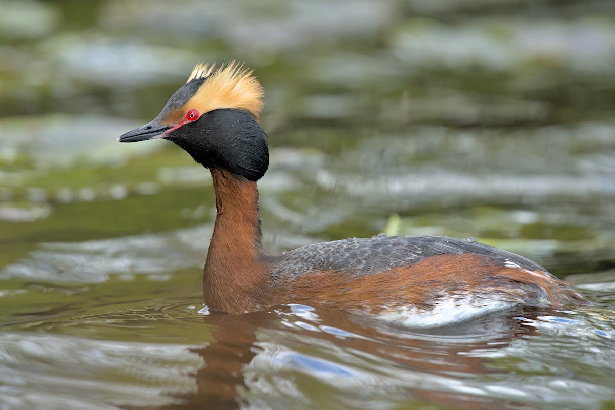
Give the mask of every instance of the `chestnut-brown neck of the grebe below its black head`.
<svg viewBox="0 0 615 410">
<path fill-rule="evenodd" d="M 263 259 L 256 181 L 212 168 L 216 222 L 205 261 L 203 291 L 212 310 L 264 308 L 270 288 Z"/>
</svg>

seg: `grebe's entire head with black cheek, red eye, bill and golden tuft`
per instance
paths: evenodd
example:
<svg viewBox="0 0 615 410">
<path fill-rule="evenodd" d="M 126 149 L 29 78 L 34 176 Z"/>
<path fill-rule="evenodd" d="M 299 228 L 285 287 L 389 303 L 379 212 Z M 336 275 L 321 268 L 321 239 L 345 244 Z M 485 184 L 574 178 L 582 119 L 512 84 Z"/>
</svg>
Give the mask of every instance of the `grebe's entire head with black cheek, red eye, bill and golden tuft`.
<svg viewBox="0 0 615 410">
<path fill-rule="evenodd" d="M 156 119 L 118 141 L 164 138 L 207 168 L 256 181 L 269 165 L 267 136 L 258 124 L 262 97 L 260 83 L 242 67 L 198 65 Z"/>
</svg>

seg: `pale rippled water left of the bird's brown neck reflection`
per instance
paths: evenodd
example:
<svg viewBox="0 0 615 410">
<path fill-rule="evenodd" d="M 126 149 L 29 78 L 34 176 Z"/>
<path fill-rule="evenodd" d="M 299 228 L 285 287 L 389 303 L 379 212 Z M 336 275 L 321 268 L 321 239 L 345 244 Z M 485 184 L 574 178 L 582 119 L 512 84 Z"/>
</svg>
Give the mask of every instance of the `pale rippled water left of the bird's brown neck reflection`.
<svg viewBox="0 0 615 410">
<path fill-rule="evenodd" d="M 196 391 L 200 346 L 0 333 L 0 408 L 109 410 Z M 36 386 L 33 388 L 32 386 Z"/>
</svg>

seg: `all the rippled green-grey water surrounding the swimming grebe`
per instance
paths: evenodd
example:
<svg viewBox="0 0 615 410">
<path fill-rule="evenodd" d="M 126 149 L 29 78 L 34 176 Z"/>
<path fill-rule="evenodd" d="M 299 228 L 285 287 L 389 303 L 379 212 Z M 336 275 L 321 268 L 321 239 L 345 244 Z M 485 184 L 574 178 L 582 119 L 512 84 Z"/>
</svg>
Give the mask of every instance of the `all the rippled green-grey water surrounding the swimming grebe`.
<svg viewBox="0 0 615 410">
<path fill-rule="evenodd" d="M 0 409 L 615 408 L 610 1 L 0 1 Z M 197 61 L 267 90 L 265 242 L 477 237 L 596 302 L 206 315 L 208 173 L 116 144 Z M 572 276 L 570 276 L 572 275 Z"/>
</svg>

